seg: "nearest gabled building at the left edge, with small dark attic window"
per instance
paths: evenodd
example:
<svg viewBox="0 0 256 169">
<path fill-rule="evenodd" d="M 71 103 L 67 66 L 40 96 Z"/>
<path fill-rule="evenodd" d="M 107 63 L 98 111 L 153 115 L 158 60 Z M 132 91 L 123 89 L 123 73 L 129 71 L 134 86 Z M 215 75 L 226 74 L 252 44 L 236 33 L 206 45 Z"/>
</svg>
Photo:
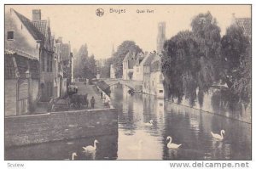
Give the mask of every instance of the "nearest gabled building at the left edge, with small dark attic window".
<svg viewBox="0 0 256 169">
<path fill-rule="evenodd" d="M 26 115 L 40 99 L 40 32 L 13 8 L 5 11 L 5 115 Z M 31 25 L 29 25 L 31 24 Z"/>
</svg>

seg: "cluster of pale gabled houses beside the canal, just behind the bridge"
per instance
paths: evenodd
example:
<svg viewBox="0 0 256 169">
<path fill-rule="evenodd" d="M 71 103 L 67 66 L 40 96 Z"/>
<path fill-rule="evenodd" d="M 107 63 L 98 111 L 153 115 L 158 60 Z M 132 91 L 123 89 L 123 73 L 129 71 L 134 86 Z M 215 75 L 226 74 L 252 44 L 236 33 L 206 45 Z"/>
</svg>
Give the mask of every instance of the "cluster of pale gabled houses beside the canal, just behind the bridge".
<svg viewBox="0 0 256 169">
<path fill-rule="evenodd" d="M 143 93 L 164 98 L 163 74 L 160 68 L 160 54 L 139 53 L 125 55 L 123 80 L 143 82 Z"/>
</svg>

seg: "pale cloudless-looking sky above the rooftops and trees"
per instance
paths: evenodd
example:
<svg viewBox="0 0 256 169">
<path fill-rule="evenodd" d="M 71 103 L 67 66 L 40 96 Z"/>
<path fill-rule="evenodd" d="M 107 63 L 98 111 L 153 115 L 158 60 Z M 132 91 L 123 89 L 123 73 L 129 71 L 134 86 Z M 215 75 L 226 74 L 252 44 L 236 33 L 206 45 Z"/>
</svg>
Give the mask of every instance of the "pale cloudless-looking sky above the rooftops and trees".
<svg viewBox="0 0 256 169">
<path fill-rule="evenodd" d="M 143 51 L 156 49 L 157 24 L 166 22 L 166 37 L 170 38 L 178 31 L 190 29 L 190 22 L 196 14 L 210 11 L 218 21 L 221 34 L 224 35 L 230 25 L 232 14 L 236 17 L 251 17 L 249 5 L 13 5 L 20 14 L 32 20 L 32 9 L 41 9 L 42 20 L 49 17 L 51 31 L 55 37 L 63 37 L 71 42 L 72 48 L 79 49 L 87 43 L 89 54 L 96 59 L 108 58 L 112 46 L 132 40 Z M 96 16 L 96 8 L 104 9 L 102 17 Z M 110 13 L 110 9 L 125 9 L 125 13 Z M 154 13 L 147 13 L 147 9 Z M 145 10 L 145 13 L 137 13 Z"/>
</svg>

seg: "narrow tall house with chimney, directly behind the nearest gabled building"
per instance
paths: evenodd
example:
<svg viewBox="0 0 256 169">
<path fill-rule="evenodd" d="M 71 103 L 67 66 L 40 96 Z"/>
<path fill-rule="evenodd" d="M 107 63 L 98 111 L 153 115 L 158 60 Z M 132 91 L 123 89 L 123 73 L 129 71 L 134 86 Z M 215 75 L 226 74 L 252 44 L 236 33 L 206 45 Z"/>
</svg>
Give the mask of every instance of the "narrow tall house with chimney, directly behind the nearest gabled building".
<svg viewBox="0 0 256 169">
<path fill-rule="evenodd" d="M 41 10 L 32 10 L 32 20 L 26 19 L 20 14 L 20 20 L 30 29 L 36 29 L 40 32 L 38 41 L 41 43 L 40 53 L 40 101 L 49 102 L 54 93 L 54 39 L 51 36 L 50 23 L 48 20 L 41 20 Z M 32 24 L 31 24 L 32 23 Z"/>
</svg>

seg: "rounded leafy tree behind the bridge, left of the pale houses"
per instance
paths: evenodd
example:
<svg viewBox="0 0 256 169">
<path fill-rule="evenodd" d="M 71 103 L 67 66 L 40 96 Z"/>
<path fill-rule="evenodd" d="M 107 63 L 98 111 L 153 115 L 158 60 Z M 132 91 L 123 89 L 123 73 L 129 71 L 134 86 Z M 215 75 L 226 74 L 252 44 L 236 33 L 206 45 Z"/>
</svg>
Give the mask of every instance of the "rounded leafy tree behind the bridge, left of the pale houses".
<svg viewBox="0 0 256 169">
<path fill-rule="evenodd" d="M 128 52 L 138 54 L 142 52 L 142 49 L 139 48 L 133 41 L 124 41 L 119 45 L 117 51 L 113 54 L 112 59 L 113 69 L 115 70 L 115 76 L 117 78 L 123 76 L 123 60 Z"/>
</svg>

